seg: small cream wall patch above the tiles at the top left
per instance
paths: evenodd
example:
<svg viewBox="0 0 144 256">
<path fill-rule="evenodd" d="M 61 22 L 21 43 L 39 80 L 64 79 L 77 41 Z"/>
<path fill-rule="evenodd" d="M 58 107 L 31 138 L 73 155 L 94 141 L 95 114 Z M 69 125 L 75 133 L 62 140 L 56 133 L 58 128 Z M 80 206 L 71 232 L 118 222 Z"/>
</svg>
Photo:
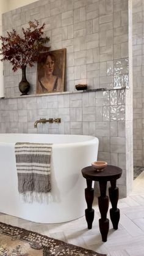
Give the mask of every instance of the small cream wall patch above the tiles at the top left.
<svg viewBox="0 0 144 256">
<path fill-rule="evenodd" d="M 5 0 L 2 1 L 5 2 Z M 26 6 L 32 2 L 36 2 L 36 0 L 7 0 L 7 11 Z"/>
</svg>

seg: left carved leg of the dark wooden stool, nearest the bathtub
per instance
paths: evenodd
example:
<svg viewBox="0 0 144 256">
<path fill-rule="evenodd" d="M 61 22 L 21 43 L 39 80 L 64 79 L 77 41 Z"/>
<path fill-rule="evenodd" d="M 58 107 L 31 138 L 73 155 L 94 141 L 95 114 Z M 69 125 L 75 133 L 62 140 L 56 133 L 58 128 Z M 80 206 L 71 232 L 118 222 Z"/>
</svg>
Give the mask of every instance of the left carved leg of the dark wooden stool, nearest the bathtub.
<svg viewBox="0 0 144 256">
<path fill-rule="evenodd" d="M 87 220 L 88 229 L 92 228 L 95 211 L 92 209 L 94 198 L 94 189 L 92 188 L 92 181 L 87 179 L 87 189 L 85 189 L 85 200 L 87 202 L 87 209 L 85 209 L 85 219 Z"/>
</svg>

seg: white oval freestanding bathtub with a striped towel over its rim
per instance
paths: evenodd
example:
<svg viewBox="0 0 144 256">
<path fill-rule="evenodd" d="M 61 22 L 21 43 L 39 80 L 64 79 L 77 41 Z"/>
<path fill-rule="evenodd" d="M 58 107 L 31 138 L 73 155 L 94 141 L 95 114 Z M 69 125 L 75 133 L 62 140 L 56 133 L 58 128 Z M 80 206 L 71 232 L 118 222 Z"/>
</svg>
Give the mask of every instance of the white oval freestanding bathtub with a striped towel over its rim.
<svg viewBox="0 0 144 256">
<path fill-rule="evenodd" d="M 85 179 L 81 169 L 97 159 L 98 138 L 85 135 L 0 134 L 0 213 L 40 223 L 84 216 Z M 26 203 L 18 192 L 16 142 L 52 143 L 51 194 L 47 202 Z"/>
</svg>

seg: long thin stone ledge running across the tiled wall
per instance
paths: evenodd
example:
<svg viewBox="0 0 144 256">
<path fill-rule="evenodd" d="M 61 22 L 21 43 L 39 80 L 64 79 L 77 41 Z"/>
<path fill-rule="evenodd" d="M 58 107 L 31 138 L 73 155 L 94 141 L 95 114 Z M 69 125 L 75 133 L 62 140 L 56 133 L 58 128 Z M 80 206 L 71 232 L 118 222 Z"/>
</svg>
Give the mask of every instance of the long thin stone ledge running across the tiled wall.
<svg viewBox="0 0 144 256">
<path fill-rule="evenodd" d="M 129 89 L 128 87 L 121 87 L 121 88 L 98 88 L 98 89 L 87 89 L 81 91 L 63 91 L 63 92 L 50 92 L 50 93 L 43 93 L 43 94 L 27 94 L 23 96 L 16 96 L 16 97 L 1 97 L 0 99 L 18 99 L 18 98 L 26 98 L 26 97 L 40 97 L 40 96 L 50 96 L 50 95 L 62 95 L 62 94 L 77 94 L 77 93 L 85 93 L 85 92 L 99 92 L 99 91 L 115 91 L 115 90 L 123 90 Z"/>
</svg>

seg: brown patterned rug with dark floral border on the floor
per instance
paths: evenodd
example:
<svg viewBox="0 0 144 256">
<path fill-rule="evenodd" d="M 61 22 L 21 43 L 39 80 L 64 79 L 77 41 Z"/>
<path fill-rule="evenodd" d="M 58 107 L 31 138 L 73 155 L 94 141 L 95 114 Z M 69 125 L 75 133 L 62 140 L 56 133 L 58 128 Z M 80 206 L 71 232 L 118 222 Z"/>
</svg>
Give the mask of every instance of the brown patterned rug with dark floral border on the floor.
<svg viewBox="0 0 144 256">
<path fill-rule="evenodd" d="M 0 222 L 1 256 L 106 256 Z"/>
</svg>

